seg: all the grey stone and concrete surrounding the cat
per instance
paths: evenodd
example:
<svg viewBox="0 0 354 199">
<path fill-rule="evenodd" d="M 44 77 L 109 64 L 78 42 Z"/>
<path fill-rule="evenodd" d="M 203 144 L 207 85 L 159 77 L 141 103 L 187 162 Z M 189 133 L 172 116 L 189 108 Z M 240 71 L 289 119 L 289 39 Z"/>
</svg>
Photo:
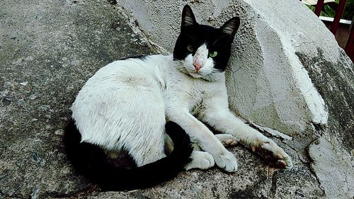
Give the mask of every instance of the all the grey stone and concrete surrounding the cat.
<svg viewBox="0 0 354 199">
<path fill-rule="evenodd" d="M 295 166 L 270 168 L 237 146 L 234 174 L 185 171 L 154 188 L 101 192 L 63 154 L 69 107 L 105 64 L 171 51 L 186 3 L 205 24 L 241 17 L 227 72 L 231 108 Z M 1 1 L 0 198 L 353 198 L 353 76 L 299 1 Z"/>
</svg>

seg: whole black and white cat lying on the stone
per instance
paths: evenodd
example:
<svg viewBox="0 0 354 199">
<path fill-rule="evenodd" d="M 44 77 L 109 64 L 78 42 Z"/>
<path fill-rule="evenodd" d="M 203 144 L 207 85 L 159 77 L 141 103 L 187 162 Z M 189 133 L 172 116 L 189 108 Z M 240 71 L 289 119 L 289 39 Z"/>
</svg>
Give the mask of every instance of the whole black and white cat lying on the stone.
<svg viewBox="0 0 354 199">
<path fill-rule="evenodd" d="M 99 69 L 79 91 L 64 135 L 74 167 L 108 190 L 141 188 L 183 167 L 217 164 L 234 172 L 236 158 L 224 146 L 241 142 L 270 164 L 291 168 L 282 148 L 229 110 L 224 70 L 239 24 L 234 17 L 221 28 L 200 25 L 185 6 L 173 55 L 121 59 Z M 118 169 L 105 159 L 122 151 L 137 168 Z"/>
</svg>

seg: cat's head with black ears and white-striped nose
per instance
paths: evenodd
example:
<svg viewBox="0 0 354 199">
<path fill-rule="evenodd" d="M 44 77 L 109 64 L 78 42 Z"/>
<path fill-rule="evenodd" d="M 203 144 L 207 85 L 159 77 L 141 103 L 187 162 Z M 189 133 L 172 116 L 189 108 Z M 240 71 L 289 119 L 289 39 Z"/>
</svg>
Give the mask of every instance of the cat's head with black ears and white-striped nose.
<svg viewBox="0 0 354 199">
<path fill-rule="evenodd" d="M 173 50 L 173 59 L 179 61 L 178 69 L 194 78 L 217 79 L 227 67 L 239 24 L 239 18 L 234 17 L 220 28 L 200 25 L 190 6 L 185 5 L 181 33 Z"/>
</svg>

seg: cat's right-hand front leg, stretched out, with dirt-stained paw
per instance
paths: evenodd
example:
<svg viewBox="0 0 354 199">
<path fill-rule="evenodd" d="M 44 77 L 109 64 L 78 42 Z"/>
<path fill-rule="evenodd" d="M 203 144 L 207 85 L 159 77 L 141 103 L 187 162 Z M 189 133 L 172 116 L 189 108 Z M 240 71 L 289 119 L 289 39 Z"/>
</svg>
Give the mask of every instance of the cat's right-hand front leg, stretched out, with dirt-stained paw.
<svg viewBox="0 0 354 199">
<path fill-rule="evenodd" d="M 200 120 L 210 124 L 216 130 L 236 137 L 241 144 L 252 149 L 253 152 L 260 154 L 263 158 L 280 168 L 290 169 L 292 161 L 287 153 L 268 137 L 265 137 L 246 125 L 242 120 L 236 118 L 230 112 L 227 106 L 220 106 L 220 101 L 217 103 L 210 103 L 212 106 L 205 108 L 200 114 Z"/>
</svg>

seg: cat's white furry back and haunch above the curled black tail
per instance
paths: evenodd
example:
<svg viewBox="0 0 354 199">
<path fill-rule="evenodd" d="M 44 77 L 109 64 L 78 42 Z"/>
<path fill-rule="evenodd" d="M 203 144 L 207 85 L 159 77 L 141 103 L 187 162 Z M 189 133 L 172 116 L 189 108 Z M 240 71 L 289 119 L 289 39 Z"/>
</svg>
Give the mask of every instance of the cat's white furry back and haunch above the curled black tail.
<svg viewBox="0 0 354 199">
<path fill-rule="evenodd" d="M 154 65 L 113 62 L 86 82 L 72 105 L 82 142 L 127 149 L 137 165 L 164 157 L 164 99 Z"/>
</svg>

